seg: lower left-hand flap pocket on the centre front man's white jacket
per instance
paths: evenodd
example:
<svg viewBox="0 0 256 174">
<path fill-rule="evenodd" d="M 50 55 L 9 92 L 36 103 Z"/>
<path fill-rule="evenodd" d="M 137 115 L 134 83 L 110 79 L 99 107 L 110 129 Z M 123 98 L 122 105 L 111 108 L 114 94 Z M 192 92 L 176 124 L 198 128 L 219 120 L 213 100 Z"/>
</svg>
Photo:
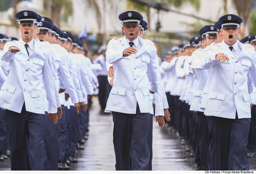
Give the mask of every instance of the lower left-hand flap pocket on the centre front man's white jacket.
<svg viewBox="0 0 256 174">
<path fill-rule="evenodd" d="M 110 105 L 115 107 L 123 107 L 125 102 L 125 91 L 125 88 L 118 88 L 113 86 L 110 92 Z"/>
</svg>

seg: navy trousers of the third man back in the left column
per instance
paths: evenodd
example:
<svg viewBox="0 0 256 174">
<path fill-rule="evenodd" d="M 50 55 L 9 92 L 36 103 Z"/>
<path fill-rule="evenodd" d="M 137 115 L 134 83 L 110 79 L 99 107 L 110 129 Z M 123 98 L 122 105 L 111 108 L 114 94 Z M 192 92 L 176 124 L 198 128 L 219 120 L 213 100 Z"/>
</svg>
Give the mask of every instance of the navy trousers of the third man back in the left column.
<svg viewBox="0 0 256 174">
<path fill-rule="evenodd" d="M 66 162 L 67 160 L 67 145 L 66 139 L 68 137 L 67 130 L 67 120 L 66 120 L 66 110 L 67 107 L 61 105 L 62 116 L 61 119 L 58 119 L 59 122 L 59 143 L 60 143 L 60 151 L 59 151 L 59 161 Z"/>
</svg>

